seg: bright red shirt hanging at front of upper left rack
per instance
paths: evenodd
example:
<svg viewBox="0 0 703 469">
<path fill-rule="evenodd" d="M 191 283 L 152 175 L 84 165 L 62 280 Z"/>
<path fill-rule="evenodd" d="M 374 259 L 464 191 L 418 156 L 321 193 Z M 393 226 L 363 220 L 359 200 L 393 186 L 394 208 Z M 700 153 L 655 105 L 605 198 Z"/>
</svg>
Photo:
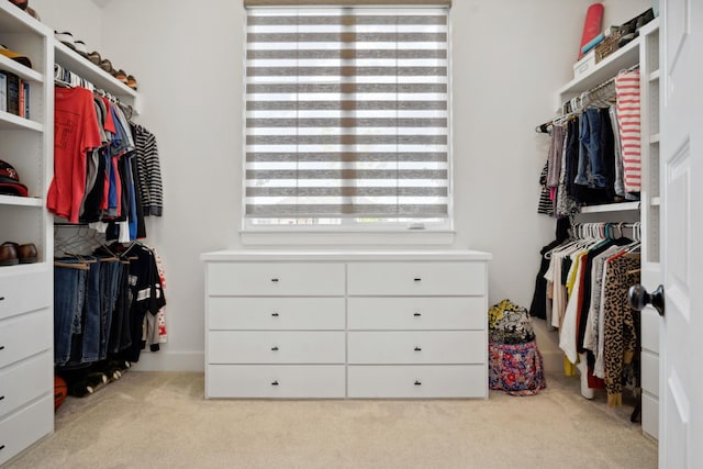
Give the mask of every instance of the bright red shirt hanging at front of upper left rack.
<svg viewBox="0 0 703 469">
<path fill-rule="evenodd" d="M 85 88 L 56 88 L 54 179 L 46 199 L 49 212 L 78 223 L 86 193 L 86 153 L 101 145 L 92 92 Z"/>
</svg>

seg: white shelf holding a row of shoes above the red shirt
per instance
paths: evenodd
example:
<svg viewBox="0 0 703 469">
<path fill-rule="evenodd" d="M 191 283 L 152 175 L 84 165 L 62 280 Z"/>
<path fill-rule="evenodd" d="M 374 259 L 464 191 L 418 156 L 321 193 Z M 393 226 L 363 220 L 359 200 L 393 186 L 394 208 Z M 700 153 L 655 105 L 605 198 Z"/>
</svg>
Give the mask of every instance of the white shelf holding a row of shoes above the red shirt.
<svg viewBox="0 0 703 469">
<path fill-rule="evenodd" d="M 135 114 L 140 113 L 140 94 L 135 90 L 56 40 L 54 40 L 54 53 L 56 63 L 62 67 L 114 96 L 123 104 L 131 105 Z"/>
</svg>

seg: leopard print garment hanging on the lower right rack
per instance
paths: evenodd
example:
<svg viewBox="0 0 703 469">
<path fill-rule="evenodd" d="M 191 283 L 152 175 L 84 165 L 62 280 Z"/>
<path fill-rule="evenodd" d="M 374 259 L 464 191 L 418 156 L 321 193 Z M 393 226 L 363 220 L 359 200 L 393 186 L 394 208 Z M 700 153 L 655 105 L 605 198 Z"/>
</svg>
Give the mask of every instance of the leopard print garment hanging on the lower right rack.
<svg viewBox="0 0 703 469">
<path fill-rule="evenodd" d="M 609 402 L 621 401 L 623 367 L 632 359 L 637 346 L 637 331 L 633 310 L 627 303 L 627 290 L 639 283 L 639 254 L 625 254 L 611 260 L 605 273 L 603 354 Z"/>
</svg>

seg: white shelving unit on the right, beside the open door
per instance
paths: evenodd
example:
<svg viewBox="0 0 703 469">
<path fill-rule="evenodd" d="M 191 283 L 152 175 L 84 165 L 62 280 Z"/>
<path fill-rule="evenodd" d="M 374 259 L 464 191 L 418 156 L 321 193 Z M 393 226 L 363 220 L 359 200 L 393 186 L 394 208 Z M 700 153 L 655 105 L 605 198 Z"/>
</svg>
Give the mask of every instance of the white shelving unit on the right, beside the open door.
<svg viewBox="0 0 703 469">
<path fill-rule="evenodd" d="M 588 221 L 641 222 L 643 283 L 659 283 L 659 19 L 639 30 L 639 35 L 599 63 L 592 72 L 571 80 L 558 91 L 559 107 L 620 70 L 639 64 L 641 111 L 641 192 L 636 202 L 590 205 L 579 216 Z M 648 280 L 649 278 L 649 280 Z M 647 308 L 641 312 L 641 427 L 657 438 L 659 409 L 659 316 Z"/>
</svg>

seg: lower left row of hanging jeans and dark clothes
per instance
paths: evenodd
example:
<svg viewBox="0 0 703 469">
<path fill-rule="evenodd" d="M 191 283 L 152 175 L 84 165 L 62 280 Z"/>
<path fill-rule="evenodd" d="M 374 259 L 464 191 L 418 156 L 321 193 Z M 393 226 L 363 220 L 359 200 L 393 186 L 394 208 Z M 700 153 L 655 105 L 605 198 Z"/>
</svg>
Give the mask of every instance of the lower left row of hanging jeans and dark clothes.
<svg viewBox="0 0 703 469">
<path fill-rule="evenodd" d="M 80 367 L 105 359 L 138 361 L 143 340 L 166 305 L 156 258 L 141 243 L 102 245 L 92 256 L 67 256 L 54 265 L 54 360 Z M 161 311 L 163 312 L 163 311 Z M 161 316 L 164 322 L 165 317 Z M 147 324 L 148 323 L 148 324 Z"/>
</svg>

